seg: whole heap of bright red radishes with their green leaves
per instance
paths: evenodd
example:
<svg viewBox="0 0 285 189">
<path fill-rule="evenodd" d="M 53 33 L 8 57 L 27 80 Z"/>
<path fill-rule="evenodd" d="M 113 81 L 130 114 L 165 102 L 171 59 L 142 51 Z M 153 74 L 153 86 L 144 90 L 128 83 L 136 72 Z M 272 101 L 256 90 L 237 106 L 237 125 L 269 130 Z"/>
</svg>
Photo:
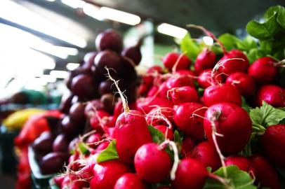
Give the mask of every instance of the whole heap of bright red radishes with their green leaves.
<svg viewBox="0 0 285 189">
<path fill-rule="evenodd" d="M 274 6 L 264 23 L 248 23 L 257 41 L 230 34 L 216 38 L 190 25 L 216 43 L 208 46 L 187 34 L 181 53 L 169 52 L 164 67 L 147 69 L 135 102 L 126 101 L 124 81 L 112 75 L 116 68 L 104 64 L 100 71 L 121 100 L 114 111 L 87 103 L 92 109 L 82 115 L 93 130 L 69 144 L 72 155 L 65 172 L 53 179 L 55 186 L 281 188 L 284 13 Z"/>
</svg>

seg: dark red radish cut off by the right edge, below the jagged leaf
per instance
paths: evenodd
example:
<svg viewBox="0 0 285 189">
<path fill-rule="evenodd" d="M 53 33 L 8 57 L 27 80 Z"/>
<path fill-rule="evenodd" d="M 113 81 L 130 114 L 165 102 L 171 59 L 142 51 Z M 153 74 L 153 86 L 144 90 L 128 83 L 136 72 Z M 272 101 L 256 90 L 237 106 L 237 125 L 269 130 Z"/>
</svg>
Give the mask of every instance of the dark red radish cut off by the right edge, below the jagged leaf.
<svg viewBox="0 0 285 189">
<path fill-rule="evenodd" d="M 261 139 L 261 144 L 267 158 L 274 165 L 285 168 L 285 125 L 279 124 L 267 127 Z"/>
</svg>

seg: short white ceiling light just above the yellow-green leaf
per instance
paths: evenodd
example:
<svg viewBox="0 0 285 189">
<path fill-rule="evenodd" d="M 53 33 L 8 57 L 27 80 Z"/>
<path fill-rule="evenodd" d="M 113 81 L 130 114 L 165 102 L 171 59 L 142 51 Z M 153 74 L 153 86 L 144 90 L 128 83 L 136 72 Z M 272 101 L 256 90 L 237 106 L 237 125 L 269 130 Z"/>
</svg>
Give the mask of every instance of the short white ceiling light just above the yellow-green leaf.
<svg viewBox="0 0 285 189">
<path fill-rule="evenodd" d="M 166 34 L 168 36 L 173 36 L 175 38 L 183 38 L 187 34 L 187 30 L 181 27 L 169 25 L 162 23 L 157 27 L 157 31 L 161 34 Z"/>
</svg>

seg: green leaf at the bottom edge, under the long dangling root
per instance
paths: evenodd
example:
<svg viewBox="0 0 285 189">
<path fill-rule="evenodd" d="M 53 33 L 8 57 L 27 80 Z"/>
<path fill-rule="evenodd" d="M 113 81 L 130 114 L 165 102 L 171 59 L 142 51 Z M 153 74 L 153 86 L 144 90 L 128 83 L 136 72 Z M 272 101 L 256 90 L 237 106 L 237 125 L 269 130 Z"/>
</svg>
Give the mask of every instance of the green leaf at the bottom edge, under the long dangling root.
<svg viewBox="0 0 285 189">
<path fill-rule="evenodd" d="M 253 185 L 253 179 L 251 179 L 251 176 L 241 171 L 237 166 L 231 165 L 226 167 L 227 169 L 227 181 L 228 186 L 225 186 L 223 183 L 220 183 L 220 181 L 216 179 L 208 178 L 206 180 L 204 189 L 227 189 L 227 188 L 239 188 L 239 189 L 256 189 L 257 187 Z M 216 172 L 214 172 L 216 176 L 220 176 L 225 179 L 224 173 L 223 173 L 223 167 L 218 169 Z"/>
</svg>

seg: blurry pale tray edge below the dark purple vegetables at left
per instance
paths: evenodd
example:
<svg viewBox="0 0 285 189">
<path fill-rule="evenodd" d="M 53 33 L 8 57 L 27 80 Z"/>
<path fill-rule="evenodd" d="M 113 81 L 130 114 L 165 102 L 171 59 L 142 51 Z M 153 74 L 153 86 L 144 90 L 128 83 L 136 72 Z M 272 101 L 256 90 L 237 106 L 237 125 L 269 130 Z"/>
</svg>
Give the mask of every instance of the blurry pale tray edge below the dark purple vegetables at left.
<svg viewBox="0 0 285 189">
<path fill-rule="evenodd" d="M 29 167 L 31 168 L 31 177 L 32 177 L 32 188 L 39 189 L 48 189 L 51 188 L 49 181 L 55 176 L 55 174 L 41 174 L 39 169 L 39 164 L 34 158 L 34 151 L 32 147 L 29 146 L 28 157 L 29 157 Z"/>
</svg>

